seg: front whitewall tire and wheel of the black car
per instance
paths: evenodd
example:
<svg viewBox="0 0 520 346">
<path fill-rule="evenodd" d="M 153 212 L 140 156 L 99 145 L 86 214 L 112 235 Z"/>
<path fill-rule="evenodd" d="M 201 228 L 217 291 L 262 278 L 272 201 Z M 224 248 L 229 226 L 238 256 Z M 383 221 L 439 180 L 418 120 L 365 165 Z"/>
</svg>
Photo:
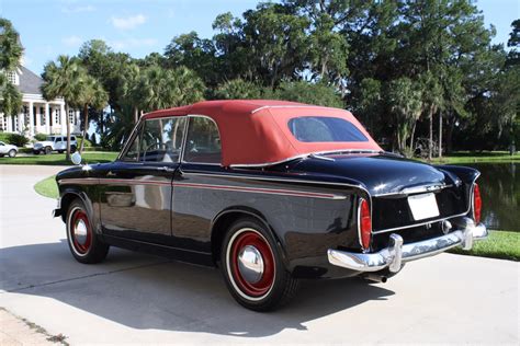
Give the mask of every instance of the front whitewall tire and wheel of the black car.
<svg viewBox="0 0 520 346">
<path fill-rule="evenodd" d="M 92 230 L 90 216 L 81 199 L 75 199 L 67 210 L 67 243 L 76 261 L 93 264 L 103 261 L 110 246 Z"/>
</svg>

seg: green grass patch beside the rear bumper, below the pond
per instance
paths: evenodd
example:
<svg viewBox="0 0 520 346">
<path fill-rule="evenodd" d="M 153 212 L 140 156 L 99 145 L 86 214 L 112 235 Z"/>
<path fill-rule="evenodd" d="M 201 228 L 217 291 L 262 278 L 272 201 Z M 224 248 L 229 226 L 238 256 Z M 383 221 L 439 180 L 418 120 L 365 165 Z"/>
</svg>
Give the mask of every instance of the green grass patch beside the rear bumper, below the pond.
<svg viewBox="0 0 520 346">
<path fill-rule="evenodd" d="M 475 242 L 473 245 L 471 251 L 455 247 L 450 252 L 461 255 L 520 261 L 520 232 L 490 231 L 488 239 Z"/>
</svg>

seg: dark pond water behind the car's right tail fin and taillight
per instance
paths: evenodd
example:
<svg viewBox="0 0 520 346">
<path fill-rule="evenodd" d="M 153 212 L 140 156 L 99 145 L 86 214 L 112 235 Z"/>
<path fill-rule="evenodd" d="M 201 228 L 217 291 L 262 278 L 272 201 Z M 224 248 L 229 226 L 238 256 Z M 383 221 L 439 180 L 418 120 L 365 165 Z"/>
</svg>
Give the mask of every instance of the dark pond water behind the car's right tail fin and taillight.
<svg viewBox="0 0 520 346">
<path fill-rule="evenodd" d="M 520 163 L 467 163 L 481 171 L 482 220 L 491 230 L 520 232 Z"/>
</svg>

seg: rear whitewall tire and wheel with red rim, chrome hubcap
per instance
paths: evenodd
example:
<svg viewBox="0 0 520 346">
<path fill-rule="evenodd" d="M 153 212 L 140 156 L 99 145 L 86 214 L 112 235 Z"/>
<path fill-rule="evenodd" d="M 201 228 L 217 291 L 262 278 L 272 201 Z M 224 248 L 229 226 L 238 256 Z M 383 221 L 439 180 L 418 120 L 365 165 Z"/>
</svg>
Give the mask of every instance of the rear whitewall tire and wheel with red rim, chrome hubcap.
<svg viewBox="0 0 520 346">
<path fill-rule="evenodd" d="M 256 261 L 248 263 L 244 257 L 240 261 L 244 253 Z M 261 260 L 260 270 L 257 269 L 258 258 Z M 233 298 L 250 310 L 280 308 L 293 298 L 299 286 L 299 281 L 285 269 L 270 230 L 252 218 L 239 219 L 231 224 L 222 244 L 221 264 Z"/>
</svg>

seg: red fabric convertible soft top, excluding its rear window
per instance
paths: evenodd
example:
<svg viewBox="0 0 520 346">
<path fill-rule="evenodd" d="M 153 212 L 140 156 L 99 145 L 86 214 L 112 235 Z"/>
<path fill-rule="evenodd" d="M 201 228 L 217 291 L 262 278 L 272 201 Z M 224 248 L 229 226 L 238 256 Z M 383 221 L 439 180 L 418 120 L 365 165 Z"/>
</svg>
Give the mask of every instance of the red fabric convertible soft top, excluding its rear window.
<svg viewBox="0 0 520 346">
<path fill-rule="evenodd" d="M 204 101 L 193 105 L 156 111 L 144 117 L 205 115 L 221 132 L 222 164 L 264 165 L 313 152 L 334 150 L 382 150 L 348 111 L 271 100 Z M 291 132 L 287 123 L 295 117 L 336 117 L 353 124 L 366 141 L 304 142 Z"/>
</svg>

